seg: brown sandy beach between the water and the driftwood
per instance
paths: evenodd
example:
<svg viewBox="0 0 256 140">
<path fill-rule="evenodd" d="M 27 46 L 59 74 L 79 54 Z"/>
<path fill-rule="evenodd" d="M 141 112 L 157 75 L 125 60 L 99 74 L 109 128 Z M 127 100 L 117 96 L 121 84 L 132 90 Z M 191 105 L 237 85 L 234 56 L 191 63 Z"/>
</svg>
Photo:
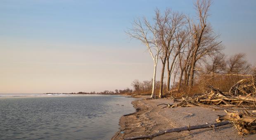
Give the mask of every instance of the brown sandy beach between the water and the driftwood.
<svg viewBox="0 0 256 140">
<path fill-rule="evenodd" d="M 172 99 L 135 100 L 132 102 L 137 112 L 120 118 L 120 131 L 112 140 L 122 140 L 140 135 L 151 135 L 158 131 L 193 126 L 206 123 L 216 123 L 217 115 L 224 115 L 223 110 L 213 110 L 208 107 L 176 107 L 164 108 L 161 103 L 173 103 Z M 192 115 L 191 115 L 192 114 Z M 215 128 L 204 128 L 180 133 L 167 133 L 153 138 L 154 140 L 255 140 L 256 134 L 240 136 L 232 124 Z"/>
</svg>

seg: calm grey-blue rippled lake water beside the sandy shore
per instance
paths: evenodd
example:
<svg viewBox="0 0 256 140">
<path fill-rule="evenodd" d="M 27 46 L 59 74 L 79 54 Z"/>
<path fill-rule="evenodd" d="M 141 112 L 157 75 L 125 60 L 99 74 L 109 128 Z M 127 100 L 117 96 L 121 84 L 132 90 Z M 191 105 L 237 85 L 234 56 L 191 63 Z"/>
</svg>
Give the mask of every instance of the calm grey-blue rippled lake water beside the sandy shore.
<svg viewBox="0 0 256 140">
<path fill-rule="evenodd" d="M 0 139 L 109 140 L 119 130 L 119 118 L 135 111 L 133 100 L 104 95 L 0 98 Z"/>
</svg>

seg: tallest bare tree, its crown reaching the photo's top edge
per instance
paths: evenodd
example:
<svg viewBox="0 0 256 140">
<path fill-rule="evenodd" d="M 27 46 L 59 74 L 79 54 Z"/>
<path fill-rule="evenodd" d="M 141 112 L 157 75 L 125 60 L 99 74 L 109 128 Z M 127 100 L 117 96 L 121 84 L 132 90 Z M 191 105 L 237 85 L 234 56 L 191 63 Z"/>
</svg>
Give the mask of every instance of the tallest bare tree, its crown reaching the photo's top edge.
<svg viewBox="0 0 256 140">
<path fill-rule="evenodd" d="M 220 42 L 216 42 L 218 35 L 214 35 L 210 23 L 207 22 L 210 6 L 211 0 L 197 0 L 195 7 L 197 9 L 198 23 L 188 18 L 188 27 L 193 37 L 193 55 L 190 63 L 191 69 L 189 77 L 190 89 L 193 86 L 196 62 L 203 56 L 218 51 L 218 47 L 220 47 Z"/>
</svg>

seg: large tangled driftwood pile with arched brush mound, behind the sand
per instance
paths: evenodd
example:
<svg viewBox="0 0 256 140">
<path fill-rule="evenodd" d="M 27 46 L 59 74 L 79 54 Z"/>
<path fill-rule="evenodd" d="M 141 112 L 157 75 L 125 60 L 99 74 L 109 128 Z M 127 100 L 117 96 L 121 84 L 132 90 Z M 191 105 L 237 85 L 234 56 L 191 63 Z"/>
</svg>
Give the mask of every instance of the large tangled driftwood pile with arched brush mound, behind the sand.
<svg viewBox="0 0 256 140">
<path fill-rule="evenodd" d="M 160 104 L 166 105 L 163 108 L 189 107 L 189 106 L 218 106 L 218 107 L 246 107 L 256 109 L 256 86 L 254 79 L 243 79 L 231 87 L 229 93 L 223 93 L 219 89 L 209 86 L 211 92 L 201 95 L 186 97 L 182 96 L 182 101 L 178 104 Z"/>
</svg>

